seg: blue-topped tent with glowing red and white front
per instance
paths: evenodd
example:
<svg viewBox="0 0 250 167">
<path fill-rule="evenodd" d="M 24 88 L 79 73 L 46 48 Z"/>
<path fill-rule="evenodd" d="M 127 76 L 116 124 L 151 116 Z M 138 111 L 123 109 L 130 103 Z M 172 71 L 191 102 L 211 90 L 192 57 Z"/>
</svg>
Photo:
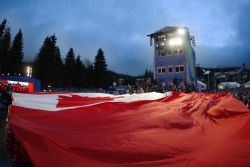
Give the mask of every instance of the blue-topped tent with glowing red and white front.
<svg viewBox="0 0 250 167">
<path fill-rule="evenodd" d="M 15 92 L 32 93 L 41 89 L 41 81 L 31 77 L 2 75 L 0 81 L 3 87 L 8 84 L 12 85 L 12 90 Z"/>
</svg>

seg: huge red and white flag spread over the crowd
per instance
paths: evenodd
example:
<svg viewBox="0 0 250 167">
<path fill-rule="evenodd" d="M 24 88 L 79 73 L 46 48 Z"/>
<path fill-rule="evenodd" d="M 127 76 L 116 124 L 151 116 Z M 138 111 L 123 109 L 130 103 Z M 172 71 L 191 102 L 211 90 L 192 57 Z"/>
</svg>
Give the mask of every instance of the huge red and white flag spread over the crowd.
<svg viewBox="0 0 250 167">
<path fill-rule="evenodd" d="M 231 94 L 13 94 L 35 167 L 247 167 L 250 115 Z"/>
</svg>

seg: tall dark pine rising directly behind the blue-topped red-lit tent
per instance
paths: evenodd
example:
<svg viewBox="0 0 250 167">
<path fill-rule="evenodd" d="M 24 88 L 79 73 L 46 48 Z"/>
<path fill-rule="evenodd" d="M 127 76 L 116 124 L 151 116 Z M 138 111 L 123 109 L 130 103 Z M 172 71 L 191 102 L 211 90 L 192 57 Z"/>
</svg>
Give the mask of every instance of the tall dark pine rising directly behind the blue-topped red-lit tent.
<svg viewBox="0 0 250 167">
<path fill-rule="evenodd" d="M 10 72 L 20 74 L 23 60 L 23 35 L 21 29 L 16 34 L 10 50 Z"/>
</svg>

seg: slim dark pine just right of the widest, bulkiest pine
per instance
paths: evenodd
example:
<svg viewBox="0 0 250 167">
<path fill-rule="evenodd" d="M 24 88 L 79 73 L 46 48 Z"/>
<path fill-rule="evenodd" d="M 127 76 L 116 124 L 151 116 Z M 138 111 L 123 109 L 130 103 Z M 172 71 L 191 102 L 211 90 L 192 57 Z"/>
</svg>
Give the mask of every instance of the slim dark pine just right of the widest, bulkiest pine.
<svg viewBox="0 0 250 167">
<path fill-rule="evenodd" d="M 73 48 L 70 48 L 66 58 L 65 58 L 65 77 L 66 77 L 66 86 L 74 86 L 74 75 L 75 71 L 75 53 Z"/>
</svg>

